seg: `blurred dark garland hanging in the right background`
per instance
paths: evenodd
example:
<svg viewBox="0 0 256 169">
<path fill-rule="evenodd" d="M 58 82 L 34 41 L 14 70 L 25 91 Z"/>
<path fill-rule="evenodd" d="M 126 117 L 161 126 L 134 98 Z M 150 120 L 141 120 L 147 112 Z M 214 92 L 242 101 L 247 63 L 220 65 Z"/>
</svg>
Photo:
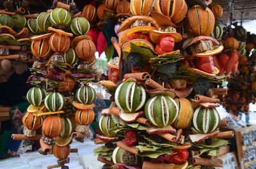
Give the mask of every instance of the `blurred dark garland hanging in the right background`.
<svg viewBox="0 0 256 169">
<path fill-rule="evenodd" d="M 238 52 L 239 64 L 237 69 L 232 71 L 228 77 L 228 95 L 221 98 L 223 107 L 227 112 L 239 115 L 240 112 L 248 114 L 249 104 L 255 103 L 255 35 L 250 34 L 243 26 L 236 26 L 232 29 L 234 38 L 228 38 L 225 41 L 227 47 L 232 47 Z M 224 55 L 224 54 L 223 54 Z M 234 53 L 230 55 L 234 56 Z"/>
</svg>

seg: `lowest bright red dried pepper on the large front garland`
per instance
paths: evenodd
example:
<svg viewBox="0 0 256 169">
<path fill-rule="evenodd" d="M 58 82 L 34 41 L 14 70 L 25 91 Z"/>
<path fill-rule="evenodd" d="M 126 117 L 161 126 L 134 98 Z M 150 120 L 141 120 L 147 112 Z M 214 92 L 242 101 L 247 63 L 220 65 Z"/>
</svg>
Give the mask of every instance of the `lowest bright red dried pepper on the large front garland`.
<svg viewBox="0 0 256 169">
<path fill-rule="evenodd" d="M 188 149 L 172 149 L 176 154 L 168 156 L 168 162 L 175 165 L 181 165 L 188 160 Z"/>
</svg>

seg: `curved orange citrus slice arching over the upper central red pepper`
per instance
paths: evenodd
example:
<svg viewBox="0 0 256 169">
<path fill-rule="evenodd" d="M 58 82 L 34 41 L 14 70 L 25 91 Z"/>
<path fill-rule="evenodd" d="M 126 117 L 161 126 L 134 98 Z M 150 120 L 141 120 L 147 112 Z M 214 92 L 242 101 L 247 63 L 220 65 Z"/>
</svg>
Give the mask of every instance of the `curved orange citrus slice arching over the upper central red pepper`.
<svg viewBox="0 0 256 169">
<path fill-rule="evenodd" d="M 182 36 L 179 33 L 171 33 L 171 32 L 168 33 L 168 32 L 162 32 L 162 31 L 157 31 L 157 30 L 150 31 L 149 38 L 152 42 L 157 43 L 159 38 L 163 35 L 164 36 L 172 36 L 176 42 L 179 42 L 182 40 Z"/>
</svg>

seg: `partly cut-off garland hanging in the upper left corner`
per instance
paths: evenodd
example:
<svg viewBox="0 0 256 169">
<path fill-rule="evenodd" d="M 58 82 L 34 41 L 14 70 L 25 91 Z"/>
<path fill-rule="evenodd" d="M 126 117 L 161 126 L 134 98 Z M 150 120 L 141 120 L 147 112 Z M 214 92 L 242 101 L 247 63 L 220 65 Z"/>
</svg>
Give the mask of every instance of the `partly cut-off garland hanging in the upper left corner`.
<svg viewBox="0 0 256 169">
<path fill-rule="evenodd" d="M 7 82 L 15 72 L 22 74 L 27 71 L 27 62 L 33 62 L 29 54 L 31 40 L 29 20 L 35 15 L 29 15 L 28 1 L 15 4 L 13 1 L 3 1 L 5 10 L 0 10 L 0 83 Z"/>
</svg>

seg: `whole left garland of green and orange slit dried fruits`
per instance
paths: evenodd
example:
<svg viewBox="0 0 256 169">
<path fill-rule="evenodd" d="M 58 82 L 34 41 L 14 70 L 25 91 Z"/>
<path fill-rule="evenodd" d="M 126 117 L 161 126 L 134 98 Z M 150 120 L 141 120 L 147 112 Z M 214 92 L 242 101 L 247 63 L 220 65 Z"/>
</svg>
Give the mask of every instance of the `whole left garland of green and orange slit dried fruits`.
<svg viewBox="0 0 256 169">
<path fill-rule="evenodd" d="M 38 60 L 30 71 L 27 98 L 31 104 L 22 122 L 24 135 L 15 140 L 40 140 L 41 154 L 54 154 L 58 165 L 48 168 L 68 168 L 72 138 L 83 142 L 88 125 L 94 121 L 92 110 L 96 93 L 90 87 L 93 80 L 96 47 L 86 35 L 90 23 L 74 15 L 73 2 L 54 1 L 53 7 L 29 20 L 31 53 Z M 42 135 L 36 129 L 42 128 Z"/>
</svg>

